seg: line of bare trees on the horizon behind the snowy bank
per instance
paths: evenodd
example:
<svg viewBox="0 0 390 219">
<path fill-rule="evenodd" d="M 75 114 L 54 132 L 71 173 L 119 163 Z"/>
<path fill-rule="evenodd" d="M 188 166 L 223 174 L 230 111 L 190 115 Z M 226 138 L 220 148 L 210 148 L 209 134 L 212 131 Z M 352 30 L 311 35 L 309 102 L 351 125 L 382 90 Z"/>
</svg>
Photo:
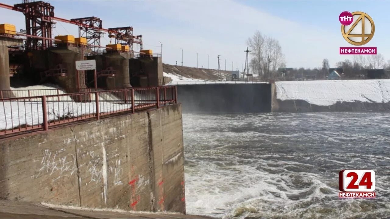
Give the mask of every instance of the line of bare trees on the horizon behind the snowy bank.
<svg viewBox="0 0 390 219">
<path fill-rule="evenodd" d="M 328 59 L 324 58 L 319 67 L 293 68 L 285 70 L 285 58 L 277 39 L 261 34 L 259 30 L 246 41 L 250 48 L 250 73 L 258 74 L 264 79 L 326 79 L 330 74 Z M 390 60 L 385 61 L 382 54 L 355 55 L 353 60 L 346 59 L 336 63 L 335 68 L 342 69 L 342 78 L 365 78 L 367 69 L 390 70 Z"/>
</svg>

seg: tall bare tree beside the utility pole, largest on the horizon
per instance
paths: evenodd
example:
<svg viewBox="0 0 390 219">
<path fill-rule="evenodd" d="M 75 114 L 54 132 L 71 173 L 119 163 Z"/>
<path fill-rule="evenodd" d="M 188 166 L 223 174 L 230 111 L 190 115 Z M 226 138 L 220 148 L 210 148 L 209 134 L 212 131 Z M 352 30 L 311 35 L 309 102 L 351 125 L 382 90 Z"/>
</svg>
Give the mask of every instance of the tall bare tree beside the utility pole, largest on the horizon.
<svg viewBox="0 0 390 219">
<path fill-rule="evenodd" d="M 284 64 L 282 47 L 276 39 L 266 37 L 257 30 L 247 44 L 252 50 L 252 69 L 256 69 L 259 75 L 268 77 L 270 72 L 269 76 L 273 77 L 278 67 Z"/>
</svg>

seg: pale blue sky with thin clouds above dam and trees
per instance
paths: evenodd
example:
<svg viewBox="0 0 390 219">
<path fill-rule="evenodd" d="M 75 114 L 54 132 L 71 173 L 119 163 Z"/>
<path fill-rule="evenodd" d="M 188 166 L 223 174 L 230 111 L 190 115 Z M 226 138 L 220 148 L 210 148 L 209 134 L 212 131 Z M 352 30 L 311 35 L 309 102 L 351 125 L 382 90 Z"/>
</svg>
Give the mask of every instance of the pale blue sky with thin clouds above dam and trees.
<svg viewBox="0 0 390 219">
<path fill-rule="evenodd" d="M 17 4 L 21 0 L 0 0 Z M 217 68 L 241 69 L 245 62 L 246 39 L 256 30 L 280 42 L 287 67 L 318 67 L 323 58 L 330 65 L 352 57 L 339 55 L 339 47 L 351 46 L 340 33 L 338 16 L 342 11 L 363 11 L 375 22 L 374 38 L 365 46 L 378 48 L 390 59 L 389 1 L 76 1 L 50 0 L 55 16 L 71 19 L 96 16 L 103 27 L 133 26 L 134 34 L 143 35 L 144 48 L 160 53 L 163 43 L 163 62 Z M 24 28 L 23 14 L 0 8 L 0 23 L 12 23 Z M 57 23 L 55 35 L 78 35 L 75 25 Z M 108 44 L 109 38 L 102 39 Z"/>
</svg>

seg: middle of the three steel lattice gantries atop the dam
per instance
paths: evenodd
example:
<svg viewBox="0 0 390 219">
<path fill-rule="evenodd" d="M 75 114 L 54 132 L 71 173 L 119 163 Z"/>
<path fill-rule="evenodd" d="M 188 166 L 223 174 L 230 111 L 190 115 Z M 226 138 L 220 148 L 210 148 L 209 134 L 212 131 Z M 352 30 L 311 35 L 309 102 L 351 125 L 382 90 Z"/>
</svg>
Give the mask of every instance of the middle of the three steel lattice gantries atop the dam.
<svg viewBox="0 0 390 219">
<path fill-rule="evenodd" d="M 101 31 L 102 21 L 100 18 L 96 17 L 87 17 L 87 18 L 74 18 L 71 21 L 77 23 L 79 27 L 78 35 L 79 37 L 87 38 L 87 44 L 93 46 L 101 46 L 100 38 L 103 37 L 103 32 Z M 99 53 L 100 47 L 92 47 L 92 53 Z"/>
</svg>

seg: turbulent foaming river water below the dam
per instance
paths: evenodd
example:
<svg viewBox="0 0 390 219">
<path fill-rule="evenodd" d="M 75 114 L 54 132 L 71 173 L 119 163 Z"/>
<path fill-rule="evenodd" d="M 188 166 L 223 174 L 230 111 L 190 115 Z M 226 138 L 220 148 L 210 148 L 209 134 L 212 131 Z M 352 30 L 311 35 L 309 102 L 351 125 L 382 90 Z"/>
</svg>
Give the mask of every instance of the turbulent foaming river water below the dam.
<svg viewBox="0 0 390 219">
<path fill-rule="evenodd" d="M 183 114 L 187 214 L 390 217 L 389 113 Z M 339 200 L 339 171 L 375 171 L 375 200 Z"/>
</svg>

